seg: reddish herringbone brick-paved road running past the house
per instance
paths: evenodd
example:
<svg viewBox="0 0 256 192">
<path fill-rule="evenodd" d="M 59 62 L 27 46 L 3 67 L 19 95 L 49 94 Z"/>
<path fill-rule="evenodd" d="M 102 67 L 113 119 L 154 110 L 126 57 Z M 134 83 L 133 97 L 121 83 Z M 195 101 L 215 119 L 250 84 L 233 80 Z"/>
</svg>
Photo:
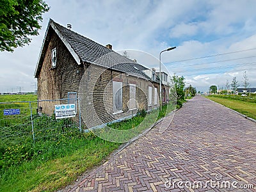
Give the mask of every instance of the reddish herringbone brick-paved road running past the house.
<svg viewBox="0 0 256 192">
<path fill-rule="evenodd" d="M 198 96 L 163 124 L 69 191 L 256 191 L 255 122 Z"/>
</svg>

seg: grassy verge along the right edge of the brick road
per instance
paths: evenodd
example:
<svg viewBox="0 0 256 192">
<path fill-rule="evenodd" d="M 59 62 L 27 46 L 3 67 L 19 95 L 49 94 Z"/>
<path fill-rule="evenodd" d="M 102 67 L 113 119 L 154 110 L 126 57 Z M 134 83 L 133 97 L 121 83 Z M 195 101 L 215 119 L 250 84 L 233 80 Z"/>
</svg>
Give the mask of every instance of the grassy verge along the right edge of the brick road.
<svg viewBox="0 0 256 192">
<path fill-rule="evenodd" d="M 208 96 L 207 98 L 218 102 L 223 106 L 226 106 L 227 108 L 234 109 L 235 111 L 242 113 L 243 115 L 256 119 L 256 103 L 241 100 L 224 99 L 221 97 Z"/>
</svg>

